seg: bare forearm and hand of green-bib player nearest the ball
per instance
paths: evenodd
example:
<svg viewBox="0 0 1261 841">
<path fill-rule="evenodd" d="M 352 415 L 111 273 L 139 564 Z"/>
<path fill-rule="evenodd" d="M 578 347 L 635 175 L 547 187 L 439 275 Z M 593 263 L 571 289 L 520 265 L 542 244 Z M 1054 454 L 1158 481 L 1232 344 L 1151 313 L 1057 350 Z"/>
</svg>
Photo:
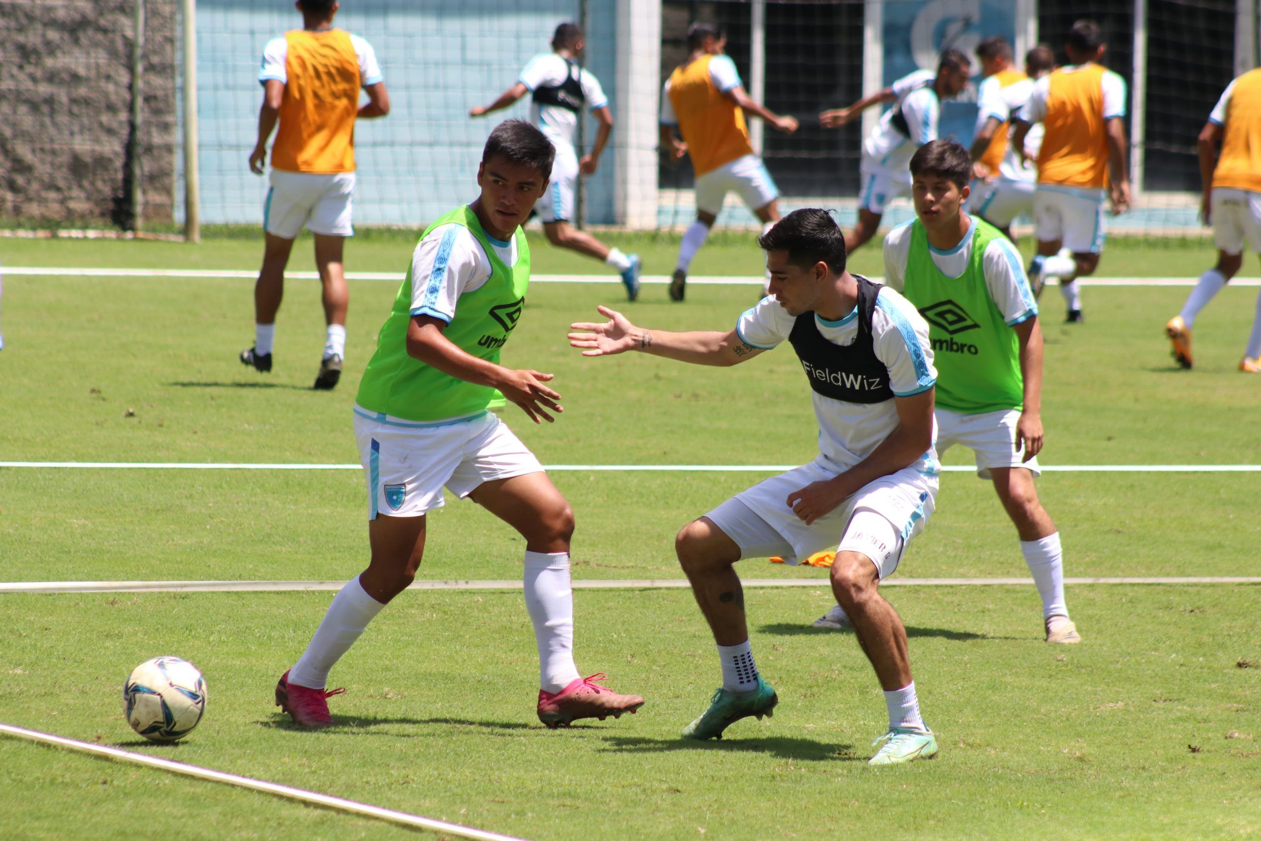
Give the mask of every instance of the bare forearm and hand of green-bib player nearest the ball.
<svg viewBox="0 0 1261 841">
<path fill-rule="evenodd" d="M 536 424 L 541 420 L 549 424 L 555 421 L 547 414 L 549 410 L 556 414 L 565 411 L 559 402 L 560 395 L 543 385 L 555 374 L 532 369 L 513 371 L 478 358 L 443 335 L 445 329 L 446 322 L 443 319 L 414 316 L 407 325 L 407 356 L 458 380 L 499 390 L 508 402 L 516 403 Z"/>
</svg>

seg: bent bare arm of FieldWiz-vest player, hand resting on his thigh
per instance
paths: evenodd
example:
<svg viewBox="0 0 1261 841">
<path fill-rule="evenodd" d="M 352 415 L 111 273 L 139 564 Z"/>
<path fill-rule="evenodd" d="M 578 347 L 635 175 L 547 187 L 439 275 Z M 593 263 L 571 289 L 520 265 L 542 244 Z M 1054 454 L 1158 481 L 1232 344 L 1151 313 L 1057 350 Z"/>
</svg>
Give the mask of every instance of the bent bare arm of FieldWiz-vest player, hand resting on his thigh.
<svg viewBox="0 0 1261 841">
<path fill-rule="evenodd" d="M 815 482 L 788 494 L 788 507 L 807 526 L 835 511 L 845 498 L 880 477 L 910 467 L 933 445 L 933 393 L 936 388 L 909 397 L 894 397 L 898 427 L 871 455 L 826 482 Z"/>
</svg>

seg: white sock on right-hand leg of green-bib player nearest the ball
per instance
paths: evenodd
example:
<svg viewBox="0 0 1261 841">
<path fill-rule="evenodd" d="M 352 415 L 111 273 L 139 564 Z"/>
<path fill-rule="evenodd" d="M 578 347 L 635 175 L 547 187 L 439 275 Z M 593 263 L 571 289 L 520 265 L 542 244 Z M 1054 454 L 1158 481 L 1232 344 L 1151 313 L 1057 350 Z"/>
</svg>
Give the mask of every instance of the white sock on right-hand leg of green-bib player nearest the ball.
<svg viewBox="0 0 1261 841">
<path fill-rule="evenodd" d="M 526 609 L 538 643 L 538 686 L 560 692 L 580 675 L 574 666 L 574 590 L 569 552 L 526 552 Z"/>
</svg>

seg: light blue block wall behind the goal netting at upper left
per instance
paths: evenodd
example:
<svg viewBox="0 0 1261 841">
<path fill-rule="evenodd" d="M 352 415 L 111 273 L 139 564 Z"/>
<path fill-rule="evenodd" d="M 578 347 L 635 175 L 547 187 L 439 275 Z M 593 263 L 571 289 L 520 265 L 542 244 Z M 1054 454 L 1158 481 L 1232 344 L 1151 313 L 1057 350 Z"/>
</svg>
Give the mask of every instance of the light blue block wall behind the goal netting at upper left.
<svg viewBox="0 0 1261 841">
<path fill-rule="evenodd" d="M 610 100 L 614 1 L 590 0 L 586 59 Z M 267 40 L 301 18 L 286 0 L 200 0 L 197 14 L 202 221 L 261 223 L 266 178 L 246 163 L 262 96 L 259 63 Z M 373 45 L 391 100 L 388 117 L 356 127 L 356 223 L 420 226 L 475 198 L 485 136 L 506 117 L 525 117 L 527 100 L 480 120 L 467 116 L 469 107 L 511 87 L 533 54 L 550 49 L 556 24 L 576 14 L 576 0 L 343 0 L 335 24 Z M 588 179 L 589 222 L 612 222 L 612 146 Z"/>
</svg>

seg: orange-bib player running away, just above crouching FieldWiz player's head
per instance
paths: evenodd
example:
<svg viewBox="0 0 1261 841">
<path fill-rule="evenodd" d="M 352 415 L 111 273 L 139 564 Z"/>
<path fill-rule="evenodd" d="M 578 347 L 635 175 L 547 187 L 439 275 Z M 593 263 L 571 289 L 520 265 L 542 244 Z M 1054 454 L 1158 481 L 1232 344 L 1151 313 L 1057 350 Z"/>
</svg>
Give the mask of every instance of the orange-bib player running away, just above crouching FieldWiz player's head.
<svg viewBox="0 0 1261 841">
<path fill-rule="evenodd" d="M 687 61 L 675 68 L 661 93 L 661 148 L 672 160 L 691 155 L 696 173 L 696 221 L 678 245 L 678 261 L 670 281 L 670 300 L 686 294 L 687 267 L 705 245 L 729 190 L 762 222 L 763 233 L 779 218 L 776 187 L 765 165 L 753 153 L 744 112 L 762 117 L 777 131 L 797 131 L 794 117 L 781 117 L 753 101 L 744 90 L 735 62 L 723 54 L 726 34 L 709 23 L 687 30 Z M 682 142 L 675 136 L 675 129 Z"/>
</svg>

